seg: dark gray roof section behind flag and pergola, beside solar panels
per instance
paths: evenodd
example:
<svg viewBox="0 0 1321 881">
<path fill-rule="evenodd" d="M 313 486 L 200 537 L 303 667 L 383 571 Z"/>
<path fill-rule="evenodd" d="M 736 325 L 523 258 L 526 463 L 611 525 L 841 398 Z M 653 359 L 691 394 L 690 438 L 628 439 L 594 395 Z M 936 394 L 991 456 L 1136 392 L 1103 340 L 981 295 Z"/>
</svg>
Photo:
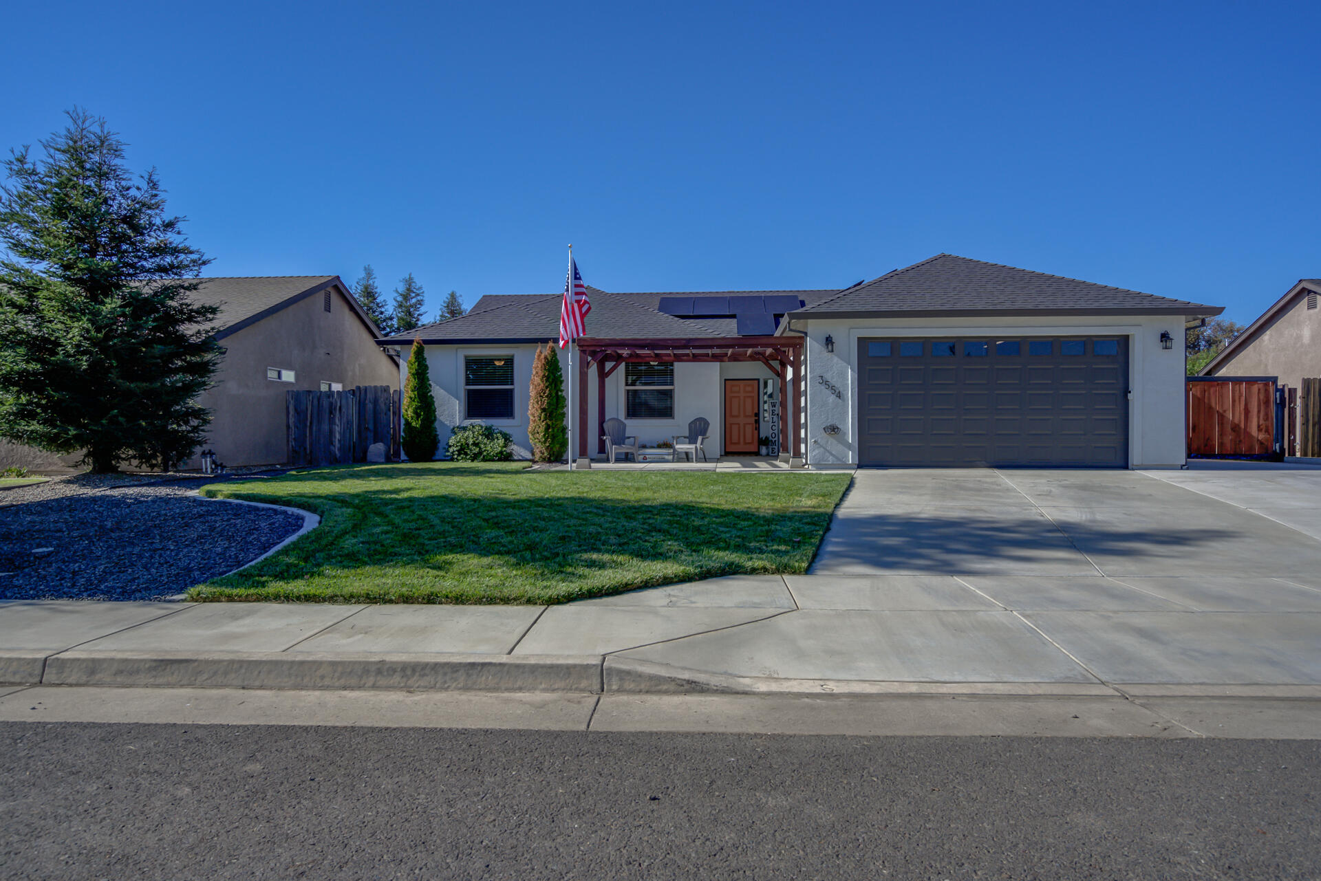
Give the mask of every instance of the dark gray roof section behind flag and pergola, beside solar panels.
<svg viewBox="0 0 1321 881">
<path fill-rule="evenodd" d="M 724 291 L 700 296 L 769 296 L 799 295 L 801 300 L 815 302 L 827 291 Z M 662 297 L 699 296 L 697 293 L 609 293 L 588 287 L 592 312 L 587 318 L 589 337 L 734 337 L 736 320 L 731 317 L 679 318 L 659 310 Z M 423 342 L 543 342 L 559 337 L 559 293 L 494 293 L 473 304 L 468 314 L 449 321 L 423 325 L 379 342 L 408 345 L 415 337 Z"/>
</svg>

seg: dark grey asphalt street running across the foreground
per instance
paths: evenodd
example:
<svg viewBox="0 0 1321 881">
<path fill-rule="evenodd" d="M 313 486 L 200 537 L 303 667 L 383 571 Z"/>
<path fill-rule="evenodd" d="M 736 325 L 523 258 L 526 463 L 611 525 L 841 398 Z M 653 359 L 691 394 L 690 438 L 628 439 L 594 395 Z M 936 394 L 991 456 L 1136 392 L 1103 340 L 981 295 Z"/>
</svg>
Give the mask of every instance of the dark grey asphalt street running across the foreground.
<svg viewBox="0 0 1321 881">
<path fill-rule="evenodd" d="M 1318 741 L 0 724 L 0 878 L 1316 878 Z"/>
</svg>

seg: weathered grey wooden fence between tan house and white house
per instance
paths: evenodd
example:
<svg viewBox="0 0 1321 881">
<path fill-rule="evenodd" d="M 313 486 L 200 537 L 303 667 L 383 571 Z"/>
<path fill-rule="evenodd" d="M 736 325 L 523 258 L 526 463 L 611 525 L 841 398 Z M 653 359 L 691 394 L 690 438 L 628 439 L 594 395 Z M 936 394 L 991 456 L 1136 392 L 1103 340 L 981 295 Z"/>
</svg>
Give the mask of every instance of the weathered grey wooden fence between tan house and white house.
<svg viewBox="0 0 1321 881">
<path fill-rule="evenodd" d="M 373 444 L 399 460 L 399 392 L 390 386 L 289 391 L 285 415 L 289 465 L 365 462 Z"/>
</svg>

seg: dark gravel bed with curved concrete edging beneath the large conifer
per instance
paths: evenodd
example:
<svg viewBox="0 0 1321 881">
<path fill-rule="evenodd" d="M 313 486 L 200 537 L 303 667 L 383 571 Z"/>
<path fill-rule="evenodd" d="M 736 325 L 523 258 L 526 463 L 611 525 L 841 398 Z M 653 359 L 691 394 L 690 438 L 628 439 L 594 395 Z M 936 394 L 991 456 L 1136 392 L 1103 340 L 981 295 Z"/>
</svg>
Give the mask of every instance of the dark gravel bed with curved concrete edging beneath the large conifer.
<svg viewBox="0 0 1321 881">
<path fill-rule="evenodd" d="M 0 494 L 0 600 L 161 600 L 255 560 L 292 511 L 194 495 L 214 477 L 78 474 Z"/>
</svg>

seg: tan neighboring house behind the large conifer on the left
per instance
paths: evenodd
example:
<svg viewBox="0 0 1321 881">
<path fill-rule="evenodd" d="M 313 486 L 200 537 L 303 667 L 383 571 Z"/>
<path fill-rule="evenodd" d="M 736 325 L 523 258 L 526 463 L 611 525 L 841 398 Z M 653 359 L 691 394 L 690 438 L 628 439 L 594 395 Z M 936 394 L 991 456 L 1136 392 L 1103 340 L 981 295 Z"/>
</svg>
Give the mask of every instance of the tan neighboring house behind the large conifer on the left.
<svg viewBox="0 0 1321 881">
<path fill-rule="evenodd" d="M 273 465 L 287 458 L 285 392 L 354 386 L 398 388 L 399 367 L 375 343 L 376 326 L 334 275 L 201 279 L 192 295 L 215 304 L 223 349 L 203 449 L 225 465 Z M 0 466 L 67 470 L 81 454 L 54 456 L 7 444 Z M 194 457 L 181 468 L 198 468 Z"/>
</svg>

